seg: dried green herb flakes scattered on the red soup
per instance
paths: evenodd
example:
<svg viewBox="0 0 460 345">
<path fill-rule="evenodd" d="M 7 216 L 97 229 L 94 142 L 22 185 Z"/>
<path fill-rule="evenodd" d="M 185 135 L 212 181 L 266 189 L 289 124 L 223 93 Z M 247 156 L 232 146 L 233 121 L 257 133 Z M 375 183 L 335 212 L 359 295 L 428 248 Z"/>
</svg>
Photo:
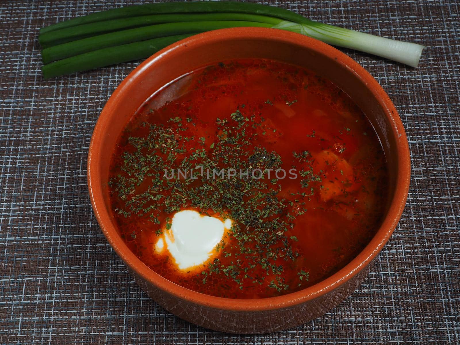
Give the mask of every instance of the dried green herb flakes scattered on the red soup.
<svg viewBox="0 0 460 345">
<path fill-rule="evenodd" d="M 271 104 L 270 100 L 266 103 Z M 290 102 L 293 103 L 295 101 Z M 293 202 L 304 205 L 304 198 L 311 196 L 313 190 L 309 184 L 321 181 L 321 178 L 311 170 L 300 171 L 302 187 L 290 193 L 295 197 L 293 201 L 278 196 L 281 190 L 279 181 L 269 178 L 267 171 L 273 172 L 281 167 L 281 157 L 275 151 L 267 151 L 257 144 L 258 136 L 264 135 L 265 130 L 260 131 L 261 134 L 251 130 L 261 126 L 265 119 L 260 116 L 257 121 L 254 114 L 243 114 L 242 109 L 245 109 L 244 105 L 230 114 L 229 120 L 216 120 L 220 134 L 209 146 L 213 150 L 205 148 L 205 137 L 198 139 L 199 146 L 193 150 L 185 147 L 194 138 L 184 137 L 184 131 L 195 126 L 191 118 L 171 118 L 169 121 L 175 124 L 171 127 L 145 124 L 149 134 L 128 139 L 132 150 L 123 152 L 122 174 L 112 178 L 110 185 L 123 201 L 124 206 L 118 211 L 120 214 L 125 217 L 143 215 L 166 230 L 171 229 L 172 219 L 167 218 L 161 224 L 160 215 L 173 214 L 184 208 L 196 208 L 204 214 L 219 213 L 237 219 L 232 224 L 230 236 L 235 240 L 231 242 L 232 245 L 236 243 L 238 249 L 227 248 L 227 242 L 216 246 L 216 251 L 225 258 L 231 258 L 230 265 L 215 259 L 202 270 L 199 280 L 205 284 L 208 275 L 217 273 L 228 276 L 241 287 L 245 281 L 255 280 L 262 284 L 265 277 L 256 279 L 250 274 L 259 266 L 267 275 L 274 274 L 276 277 L 267 281 L 267 285 L 281 291 L 287 289 L 288 284 L 281 276 L 284 264 L 280 263 L 292 263 L 299 257 L 290 244 L 298 241 L 297 237 L 287 236 L 286 232 L 292 229 L 296 216 L 305 213 L 302 209 L 293 213 L 291 207 Z M 276 132 L 276 128 L 265 128 Z M 300 162 L 312 159 L 308 151 L 293 152 L 293 157 Z M 168 171 L 174 167 L 192 171 L 190 175 L 193 174 L 193 178 L 169 178 L 168 174 L 171 173 L 166 173 L 165 177 L 163 168 Z M 259 176 L 257 171 L 260 170 L 264 178 L 239 178 L 237 175 L 209 178 L 206 174 L 200 174 L 201 169 L 224 174 L 230 168 L 247 170 L 249 175 L 255 173 L 254 176 Z M 148 181 L 148 186 L 140 188 L 145 181 Z M 156 230 L 157 235 L 161 235 L 161 232 Z"/>
</svg>

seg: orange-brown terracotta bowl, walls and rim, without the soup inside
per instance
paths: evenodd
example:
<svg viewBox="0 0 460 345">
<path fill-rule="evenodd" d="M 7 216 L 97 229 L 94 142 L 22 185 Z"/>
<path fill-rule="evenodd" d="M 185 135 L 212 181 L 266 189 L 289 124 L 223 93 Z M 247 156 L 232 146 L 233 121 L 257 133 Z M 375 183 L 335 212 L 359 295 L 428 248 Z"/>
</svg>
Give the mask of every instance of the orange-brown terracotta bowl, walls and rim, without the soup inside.
<svg viewBox="0 0 460 345">
<path fill-rule="evenodd" d="M 144 265 L 119 236 L 109 212 L 111 152 L 123 127 L 149 96 L 175 78 L 232 58 L 267 58 L 315 71 L 361 107 L 379 135 L 388 161 L 390 201 L 372 241 L 343 269 L 309 288 L 266 299 L 208 296 L 176 285 Z M 390 238 L 408 195 L 410 161 L 403 124 L 382 87 L 350 57 L 318 40 L 277 29 L 235 28 L 195 35 L 149 57 L 121 82 L 94 129 L 88 155 L 92 207 L 107 241 L 140 287 L 171 313 L 197 325 L 231 333 L 268 333 L 326 313 L 353 293 Z"/>
</svg>

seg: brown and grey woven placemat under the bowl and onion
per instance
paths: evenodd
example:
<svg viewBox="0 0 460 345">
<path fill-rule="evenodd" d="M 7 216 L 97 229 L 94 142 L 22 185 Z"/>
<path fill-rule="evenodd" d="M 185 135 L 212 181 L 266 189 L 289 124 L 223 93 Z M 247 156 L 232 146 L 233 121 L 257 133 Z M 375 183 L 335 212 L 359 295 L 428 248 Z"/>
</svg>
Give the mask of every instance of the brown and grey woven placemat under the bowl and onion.
<svg viewBox="0 0 460 345">
<path fill-rule="evenodd" d="M 199 328 L 156 305 L 94 218 L 86 188 L 91 133 L 138 63 L 42 80 L 40 27 L 131 3 L 0 3 L 0 344 L 458 344 L 459 2 L 268 2 L 427 49 L 419 69 L 346 51 L 403 119 L 412 153 L 408 203 L 350 298 L 298 328 L 254 336 Z"/>
</svg>

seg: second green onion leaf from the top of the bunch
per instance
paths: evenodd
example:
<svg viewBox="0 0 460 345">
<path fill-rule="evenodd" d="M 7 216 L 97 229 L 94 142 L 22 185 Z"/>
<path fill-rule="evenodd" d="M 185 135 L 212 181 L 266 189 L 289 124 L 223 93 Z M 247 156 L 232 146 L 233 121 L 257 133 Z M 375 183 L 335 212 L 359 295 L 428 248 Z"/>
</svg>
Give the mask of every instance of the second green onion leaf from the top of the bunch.
<svg viewBox="0 0 460 345">
<path fill-rule="evenodd" d="M 43 47 L 56 46 L 58 44 L 80 40 L 86 37 L 102 35 L 121 29 L 138 28 L 162 23 L 177 22 L 203 22 L 203 21 L 221 21 L 221 20 L 238 20 L 246 22 L 258 22 L 267 24 L 278 24 L 280 18 L 260 16 L 247 13 L 197 13 L 197 14 L 154 14 L 151 16 L 127 17 L 104 22 L 87 23 L 73 26 L 70 28 L 58 29 L 39 35 L 40 45 Z"/>
</svg>

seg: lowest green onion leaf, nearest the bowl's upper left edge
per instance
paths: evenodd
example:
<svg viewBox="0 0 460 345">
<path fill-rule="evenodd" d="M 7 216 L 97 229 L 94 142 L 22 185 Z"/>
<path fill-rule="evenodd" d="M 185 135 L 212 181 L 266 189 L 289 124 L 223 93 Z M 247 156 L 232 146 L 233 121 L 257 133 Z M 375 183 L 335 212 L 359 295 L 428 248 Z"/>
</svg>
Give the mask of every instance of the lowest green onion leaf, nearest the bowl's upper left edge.
<svg viewBox="0 0 460 345">
<path fill-rule="evenodd" d="M 69 57 L 42 67 L 43 78 L 82 72 L 132 60 L 138 60 L 158 52 L 170 44 L 197 33 L 155 38 L 142 42 L 134 42 L 121 46 L 98 49 L 93 52 Z"/>
</svg>

